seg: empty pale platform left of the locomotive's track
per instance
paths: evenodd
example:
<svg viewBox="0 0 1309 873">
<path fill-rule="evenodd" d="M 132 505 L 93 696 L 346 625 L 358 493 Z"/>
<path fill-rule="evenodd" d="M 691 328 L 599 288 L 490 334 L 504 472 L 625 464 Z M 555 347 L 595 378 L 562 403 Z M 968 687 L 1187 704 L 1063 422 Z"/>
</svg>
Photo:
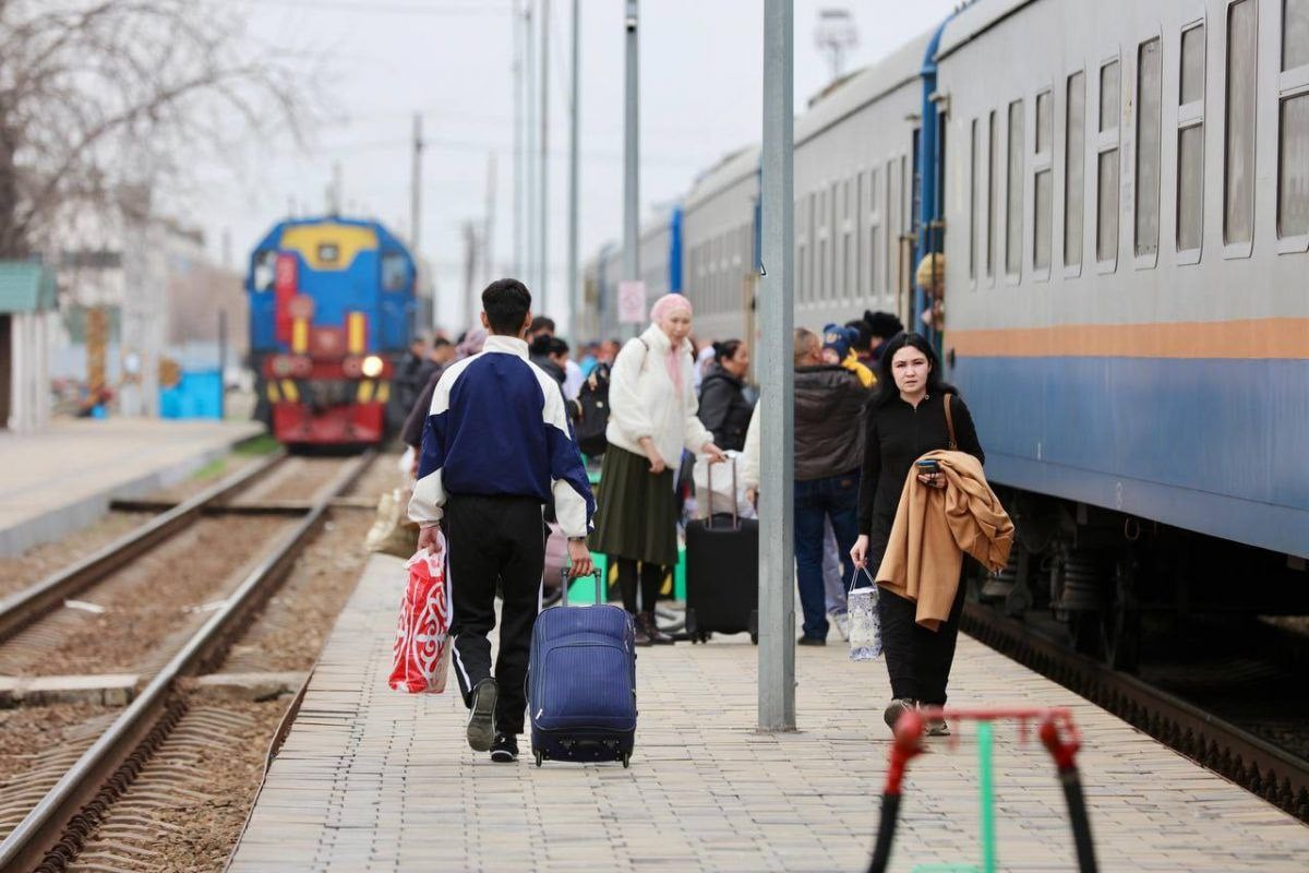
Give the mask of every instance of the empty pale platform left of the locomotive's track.
<svg viewBox="0 0 1309 873">
<path fill-rule="evenodd" d="M 0 555 L 89 525 L 115 497 L 181 482 L 263 433 L 257 421 L 55 419 L 45 433 L 0 433 Z"/>
</svg>

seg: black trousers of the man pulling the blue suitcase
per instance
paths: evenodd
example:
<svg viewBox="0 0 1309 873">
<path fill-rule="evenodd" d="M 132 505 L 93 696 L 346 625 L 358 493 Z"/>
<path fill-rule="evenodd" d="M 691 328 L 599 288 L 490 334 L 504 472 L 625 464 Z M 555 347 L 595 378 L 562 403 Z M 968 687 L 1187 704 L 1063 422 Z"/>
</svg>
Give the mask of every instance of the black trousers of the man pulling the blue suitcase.
<svg viewBox="0 0 1309 873">
<path fill-rule="evenodd" d="M 491 675 L 496 585 L 500 611 L 500 652 L 495 678 L 496 730 L 522 733 L 528 708 L 525 682 L 531 653 L 531 628 L 541 611 L 541 576 L 546 568 L 546 533 L 535 497 L 450 495 L 445 501 L 445 535 L 450 548 L 454 616 L 453 666 L 473 705 L 473 687 Z"/>
</svg>

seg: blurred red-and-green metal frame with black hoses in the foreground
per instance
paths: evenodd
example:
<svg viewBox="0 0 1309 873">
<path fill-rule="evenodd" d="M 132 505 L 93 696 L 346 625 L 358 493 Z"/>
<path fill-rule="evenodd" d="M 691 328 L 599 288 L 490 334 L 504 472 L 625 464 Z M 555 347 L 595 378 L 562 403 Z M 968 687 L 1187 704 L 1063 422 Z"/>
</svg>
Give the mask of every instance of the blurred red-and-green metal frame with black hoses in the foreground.
<svg viewBox="0 0 1309 873">
<path fill-rule="evenodd" d="M 1077 849 L 1077 870 L 1096 873 L 1096 847 L 1090 838 L 1090 818 L 1077 772 L 1077 750 L 1081 737 L 1067 708 L 983 708 L 962 709 L 924 707 L 908 711 L 895 722 L 895 741 L 891 743 L 886 785 L 882 789 L 882 814 L 873 846 L 873 860 L 868 873 L 885 873 L 891 857 L 891 843 L 899 822 L 901 783 L 908 762 L 923 754 L 923 730 L 929 719 L 978 722 L 978 801 L 980 864 L 920 864 L 914 873 L 995 873 L 997 855 L 995 844 L 995 775 L 992 767 L 994 722 L 1017 721 L 1020 739 L 1026 739 L 1030 726 L 1037 725 L 1042 745 L 1055 762 L 1059 783 L 1068 804 L 1068 821 Z"/>
</svg>

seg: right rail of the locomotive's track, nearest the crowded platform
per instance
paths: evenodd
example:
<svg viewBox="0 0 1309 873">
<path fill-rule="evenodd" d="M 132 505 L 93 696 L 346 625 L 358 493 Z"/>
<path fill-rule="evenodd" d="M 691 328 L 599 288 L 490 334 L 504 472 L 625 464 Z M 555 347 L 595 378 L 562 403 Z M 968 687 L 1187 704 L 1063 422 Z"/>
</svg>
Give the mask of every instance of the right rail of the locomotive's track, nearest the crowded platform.
<svg viewBox="0 0 1309 873">
<path fill-rule="evenodd" d="M 204 626 L 145 686 L 67 774 L 0 843 L 0 870 L 63 870 L 186 712 L 181 679 L 215 666 L 274 593 L 325 521 L 331 500 L 368 469 L 369 452 L 347 463 L 289 531 Z"/>
</svg>

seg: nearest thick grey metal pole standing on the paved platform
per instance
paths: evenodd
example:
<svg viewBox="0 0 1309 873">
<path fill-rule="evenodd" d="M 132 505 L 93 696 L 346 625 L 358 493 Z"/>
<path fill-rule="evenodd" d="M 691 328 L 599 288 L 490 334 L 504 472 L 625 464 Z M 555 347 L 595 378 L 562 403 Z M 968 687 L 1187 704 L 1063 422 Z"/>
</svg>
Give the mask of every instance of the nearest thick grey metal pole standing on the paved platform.
<svg viewBox="0 0 1309 873">
<path fill-rule="evenodd" d="M 795 10 L 763 5 L 761 258 L 759 730 L 796 729 L 793 161 Z"/>
</svg>

